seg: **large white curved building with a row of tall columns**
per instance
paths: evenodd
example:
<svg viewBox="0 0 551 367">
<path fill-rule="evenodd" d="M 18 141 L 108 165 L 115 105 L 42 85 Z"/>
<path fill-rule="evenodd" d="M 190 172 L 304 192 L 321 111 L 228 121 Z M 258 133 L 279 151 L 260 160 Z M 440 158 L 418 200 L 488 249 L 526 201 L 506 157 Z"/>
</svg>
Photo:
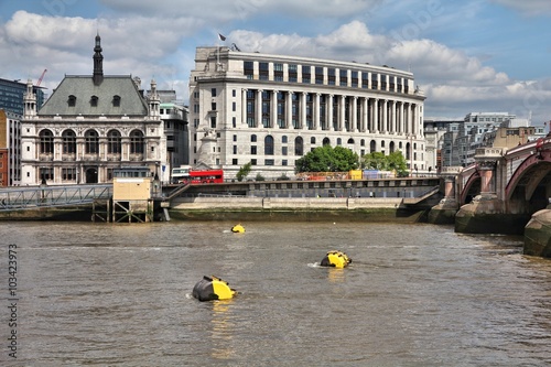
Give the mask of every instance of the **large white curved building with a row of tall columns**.
<svg viewBox="0 0 551 367">
<path fill-rule="evenodd" d="M 190 163 L 235 176 L 292 176 L 323 144 L 401 151 L 425 170 L 424 95 L 413 74 L 355 62 L 197 47 L 190 80 Z M 432 164 L 432 163 L 431 163 Z"/>
</svg>

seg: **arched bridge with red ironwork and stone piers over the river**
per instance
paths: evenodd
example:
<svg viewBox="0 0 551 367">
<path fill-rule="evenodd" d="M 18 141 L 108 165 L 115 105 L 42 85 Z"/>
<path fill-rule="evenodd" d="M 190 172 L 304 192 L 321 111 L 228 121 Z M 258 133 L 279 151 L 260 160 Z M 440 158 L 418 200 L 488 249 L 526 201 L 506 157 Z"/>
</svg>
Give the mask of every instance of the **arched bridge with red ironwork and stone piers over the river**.
<svg viewBox="0 0 551 367">
<path fill-rule="evenodd" d="M 441 172 L 456 231 L 522 234 L 551 197 L 551 137 L 512 149 L 478 148 L 475 163 Z"/>
</svg>

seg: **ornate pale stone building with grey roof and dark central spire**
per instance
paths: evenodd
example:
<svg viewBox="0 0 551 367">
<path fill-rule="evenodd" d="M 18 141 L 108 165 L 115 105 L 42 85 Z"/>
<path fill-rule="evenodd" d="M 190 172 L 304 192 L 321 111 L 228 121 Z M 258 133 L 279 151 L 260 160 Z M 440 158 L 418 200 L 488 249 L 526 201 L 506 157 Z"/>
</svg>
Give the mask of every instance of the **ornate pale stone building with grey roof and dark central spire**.
<svg viewBox="0 0 551 367">
<path fill-rule="evenodd" d="M 169 180 L 156 84 L 145 98 L 139 78 L 104 75 L 96 36 L 93 75 L 67 75 L 37 109 L 32 82 L 21 121 L 21 184 L 105 183 L 114 170 L 147 166 Z M 166 174 L 166 177 L 163 177 Z"/>
</svg>

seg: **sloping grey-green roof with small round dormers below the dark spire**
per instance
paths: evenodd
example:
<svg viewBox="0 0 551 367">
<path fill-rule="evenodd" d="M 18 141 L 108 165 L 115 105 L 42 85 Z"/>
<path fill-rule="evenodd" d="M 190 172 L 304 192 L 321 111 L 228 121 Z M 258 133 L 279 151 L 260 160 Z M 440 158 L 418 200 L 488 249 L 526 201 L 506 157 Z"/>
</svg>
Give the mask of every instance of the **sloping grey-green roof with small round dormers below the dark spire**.
<svg viewBox="0 0 551 367">
<path fill-rule="evenodd" d="M 75 106 L 69 107 L 69 96 L 75 96 Z M 97 107 L 91 97 L 97 97 Z M 120 106 L 114 106 L 114 97 L 120 97 Z M 41 116 L 145 116 L 148 104 L 132 77 L 104 76 L 100 85 L 94 85 L 91 76 L 65 76 L 37 112 Z"/>
</svg>

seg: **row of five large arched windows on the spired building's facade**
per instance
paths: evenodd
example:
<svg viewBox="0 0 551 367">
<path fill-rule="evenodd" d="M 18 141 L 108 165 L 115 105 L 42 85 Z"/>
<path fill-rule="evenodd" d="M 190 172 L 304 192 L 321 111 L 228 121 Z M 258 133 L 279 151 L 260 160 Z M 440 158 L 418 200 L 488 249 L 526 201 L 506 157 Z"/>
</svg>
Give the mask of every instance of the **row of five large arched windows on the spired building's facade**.
<svg viewBox="0 0 551 367">
<path fill-rule="evenodd" d="M 130 138 L 130 153 L 141 154 L 144 150 L 143 132 L 140 130 L 132 130 L 129 134 Z M 54 152 L 54 134 L 51 130 L 42 130 L 39 134 L 40 139 L 40 153 L 52 154 Z M 73 130 L 65 130 L 62 133 L 63 153 L 76 153 L 76 133 Z M 87 130 L 84 133 L 85 153 L 96 154 L 99 153 L 99 134 L 96 130 Z M 119 131 L 110 130 L 107 132 L 107 153 L 121 153 L 122 137 Z"/>
</svg>

